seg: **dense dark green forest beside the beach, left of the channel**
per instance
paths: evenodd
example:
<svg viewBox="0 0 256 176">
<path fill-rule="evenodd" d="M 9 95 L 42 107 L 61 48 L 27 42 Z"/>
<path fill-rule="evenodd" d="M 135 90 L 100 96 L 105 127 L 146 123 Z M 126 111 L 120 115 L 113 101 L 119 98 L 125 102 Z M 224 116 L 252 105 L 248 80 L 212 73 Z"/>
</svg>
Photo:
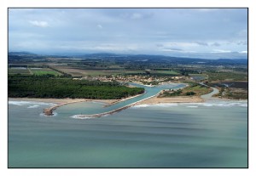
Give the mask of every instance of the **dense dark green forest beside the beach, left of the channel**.
<svg viewBox="0 0 256 176">
<path fill-rule="evenodd" d="M 71 78 L 9 76 L 9 97 L 122 99 L 143 94 L 144 88 L 128 88 L 119 82 L 73 80 Z"/>
</svg>

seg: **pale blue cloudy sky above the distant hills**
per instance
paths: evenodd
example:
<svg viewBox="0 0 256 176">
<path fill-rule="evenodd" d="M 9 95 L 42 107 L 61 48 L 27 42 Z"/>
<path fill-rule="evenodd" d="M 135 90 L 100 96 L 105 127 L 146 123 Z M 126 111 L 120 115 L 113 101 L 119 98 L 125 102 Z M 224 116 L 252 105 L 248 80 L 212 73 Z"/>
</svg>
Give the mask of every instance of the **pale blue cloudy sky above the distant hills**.
<svg viewBox="0 0 256 176">
<path fill-rule="evenodd" d="M 247 9 L 9 9 L 9 51 L 247 58 Z"/>
</svg>

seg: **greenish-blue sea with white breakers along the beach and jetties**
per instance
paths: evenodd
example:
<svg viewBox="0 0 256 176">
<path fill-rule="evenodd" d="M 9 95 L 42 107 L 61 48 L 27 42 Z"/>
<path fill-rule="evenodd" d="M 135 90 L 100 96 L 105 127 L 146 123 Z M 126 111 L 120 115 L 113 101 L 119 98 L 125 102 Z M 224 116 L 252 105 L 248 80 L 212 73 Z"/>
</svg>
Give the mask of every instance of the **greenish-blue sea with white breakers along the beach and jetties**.
<svg viewBox="0 0 256 176">
<path fill-rule="evenodd" d="M 247 167 L 247 101 L 134 105 L 9 100 L 8 167 Z"/>
</svg>

